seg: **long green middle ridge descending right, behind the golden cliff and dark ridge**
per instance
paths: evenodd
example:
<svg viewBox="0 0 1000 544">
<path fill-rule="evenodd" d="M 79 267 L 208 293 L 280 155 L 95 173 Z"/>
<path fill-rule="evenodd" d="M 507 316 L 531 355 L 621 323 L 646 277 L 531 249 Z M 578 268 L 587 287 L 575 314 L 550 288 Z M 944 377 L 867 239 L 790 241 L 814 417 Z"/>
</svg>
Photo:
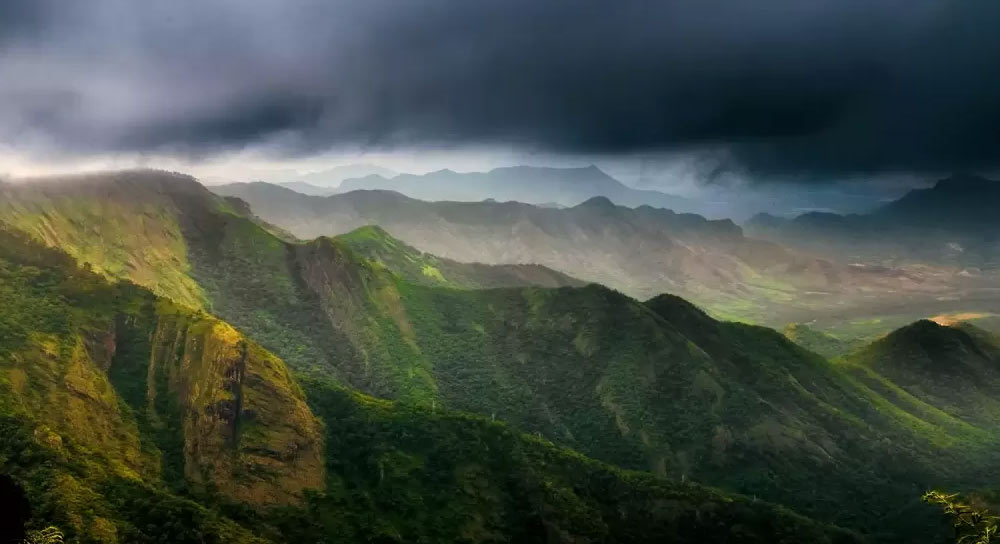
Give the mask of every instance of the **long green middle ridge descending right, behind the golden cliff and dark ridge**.
<svg viewBox="0 0 1000 544">
<path fill-rule="evenodd" d="M 171 262 L 204 307 L 300 376 L 405 409 L 474 412 L 622 467 L 897 536 L 936 522 L 911 509 L 924 488 L 971 484 L 994 466 L 983 429 L 676 297 L 469 289 L 558 276 L 449 263 L 377 229 L 292 243 L 190 178 L 134 184 L 136 198 L 170 199 L 185 250 Z"/>
</svg>

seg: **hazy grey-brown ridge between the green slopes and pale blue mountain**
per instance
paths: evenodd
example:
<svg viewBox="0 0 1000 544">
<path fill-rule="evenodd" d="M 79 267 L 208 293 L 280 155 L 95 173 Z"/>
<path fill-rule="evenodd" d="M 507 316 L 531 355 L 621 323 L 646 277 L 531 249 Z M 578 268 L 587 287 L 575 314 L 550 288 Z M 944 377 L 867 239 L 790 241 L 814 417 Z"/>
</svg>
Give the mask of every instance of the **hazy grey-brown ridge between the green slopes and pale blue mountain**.
<svg viewBox="0 0 1000 544">
<path fill-rule="evenodd" d="M 931 298 L 961 278 L 851 267 L 743 235 L 728 220 L 618 206 L 604 197 L 570 208 L 518 202 L 424 202 L 388 191 L 326 198 L 263 183 L 212 187 L 297 236 L 375 224 L 435 255 L 490 264 L 537 263 L 638 298 L 675 293 L 715 315 L 770 324 L 823 308 L 881 304 L 884 294 Z M 850 310 L 848 310 L 850 311 Z"/>
</svg>

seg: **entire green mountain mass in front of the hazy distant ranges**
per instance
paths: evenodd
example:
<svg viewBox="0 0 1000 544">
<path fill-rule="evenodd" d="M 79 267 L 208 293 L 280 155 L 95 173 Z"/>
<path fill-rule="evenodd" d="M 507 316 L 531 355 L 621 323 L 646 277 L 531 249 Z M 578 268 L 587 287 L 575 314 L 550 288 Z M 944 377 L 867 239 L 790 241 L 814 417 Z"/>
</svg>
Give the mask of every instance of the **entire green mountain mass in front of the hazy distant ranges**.
<svg viewBox="0 0 1000 544">
<path fill-rule="evenodd" d="M 992 405 L 933 389 L 997 393 L 996 339 L 967 325 L 831 362 L 676 296 L 464 264 L 378 227 L 294 240 L 185 176 L 0 191 L 0 385 L 25 452 L 0 466 L 79 534 L 194 516 L 230 541 L 857 538 L 832 522 L 913 542 L 941 529 L 922 491 L 997 463 Z M 914 350 L 941 362 L 899 370 Z M 917 370 L 951 361 L 975 378 Z"/>
</svg>

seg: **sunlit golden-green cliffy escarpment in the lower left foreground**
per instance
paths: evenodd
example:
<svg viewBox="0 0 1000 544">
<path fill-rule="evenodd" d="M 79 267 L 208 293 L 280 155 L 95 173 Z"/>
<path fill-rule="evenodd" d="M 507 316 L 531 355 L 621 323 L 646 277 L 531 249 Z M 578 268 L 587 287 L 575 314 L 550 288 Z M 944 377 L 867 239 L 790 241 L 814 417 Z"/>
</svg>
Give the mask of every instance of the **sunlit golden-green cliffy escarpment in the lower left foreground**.
<svg viewBox="0 0 1000 544">
<path fill-rule="evenodd" d="M 228 325 L 6 229 L 0 294 L 2 464 L 70 535 L 150 537 L 123 495 L 201 512 L 214 534 L 231 522 L 172 493 L 269 507 L 322 489 L 319 422 L 301 390 Z"/>
</svg>

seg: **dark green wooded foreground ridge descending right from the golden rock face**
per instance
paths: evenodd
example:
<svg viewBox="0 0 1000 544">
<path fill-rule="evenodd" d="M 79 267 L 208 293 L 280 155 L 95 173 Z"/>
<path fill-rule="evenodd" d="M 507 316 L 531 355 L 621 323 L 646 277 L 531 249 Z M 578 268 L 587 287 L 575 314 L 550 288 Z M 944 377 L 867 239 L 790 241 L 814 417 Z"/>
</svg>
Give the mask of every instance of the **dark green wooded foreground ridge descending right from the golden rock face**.
<svg viewBox="0 0 1000 544">
<path fill-rule="evenodd" d="M 322 382 L 327 491 L 280 524 L 306 542 L 854 542 L 748 497 L 621 471 L 501 422 Z"/>
</svg>

